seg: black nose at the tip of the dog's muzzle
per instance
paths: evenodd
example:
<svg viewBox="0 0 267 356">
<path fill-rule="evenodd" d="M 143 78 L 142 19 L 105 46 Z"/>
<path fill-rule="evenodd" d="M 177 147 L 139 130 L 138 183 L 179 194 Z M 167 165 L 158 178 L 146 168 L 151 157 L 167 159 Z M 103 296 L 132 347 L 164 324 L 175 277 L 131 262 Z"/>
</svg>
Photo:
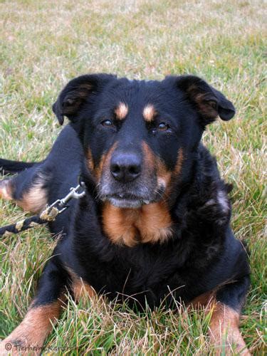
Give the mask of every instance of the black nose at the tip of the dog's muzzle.
<svg viewBox="0 0 267 356">
<path fill-rule="evenodd" d="M 141 158 L 135 153 L 114 153 L 110 161 L 110 172 L 120 182 L 131 182 L 141 174 Z"/>
</svg>

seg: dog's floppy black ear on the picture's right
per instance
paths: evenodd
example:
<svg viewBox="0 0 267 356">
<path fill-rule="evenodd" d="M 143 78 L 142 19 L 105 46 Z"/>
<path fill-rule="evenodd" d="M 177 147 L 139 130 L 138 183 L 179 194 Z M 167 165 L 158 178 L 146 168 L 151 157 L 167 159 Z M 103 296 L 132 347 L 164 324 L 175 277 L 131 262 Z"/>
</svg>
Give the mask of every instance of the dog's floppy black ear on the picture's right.
<svg viewBox="0 0 267 356">
<path fill-rule="evenodd" d="M 228 121 L 236 113 L 231 101 L 199 77 L 182 75 L 177 78 L 177 86 L 196 106 L 204 125 L 213 122 L 218 115 Z"/>
</svg>

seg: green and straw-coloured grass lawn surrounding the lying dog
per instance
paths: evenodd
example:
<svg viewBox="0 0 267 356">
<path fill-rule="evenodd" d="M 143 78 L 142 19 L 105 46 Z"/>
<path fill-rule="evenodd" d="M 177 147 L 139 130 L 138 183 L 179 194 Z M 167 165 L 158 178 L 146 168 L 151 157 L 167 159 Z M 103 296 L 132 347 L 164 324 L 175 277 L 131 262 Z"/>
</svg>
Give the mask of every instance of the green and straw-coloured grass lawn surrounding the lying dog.
<svg viewBox="0 0 267 356">
<path fill-rule="evenodd" d="M 51 111 L 70 78 L 108 72 L 129 78 L 194 73 L 237 108 L 204 142 L 234 183 L 232 227 L 250 249 L 251 290 L 241 332 L 253 355 L 266 352 L 266 4 L 245 0 L 0 1 L 0 156 L 42 159 L 61 130 Z M 0 201 L 0 226 L 21 218 Z M 0 338 L 26 313 L 54 242 L 35 229 L 0 242 Z M 163 308 L 137 315 L 103 300 L 70 300 L 46 347 L 95 355 L 205 355 L 208 317 Z M 48 350 L 48 349 L 47 349 Z M 56 349 L 53 348 L 55 352 Z"/>
</svg>

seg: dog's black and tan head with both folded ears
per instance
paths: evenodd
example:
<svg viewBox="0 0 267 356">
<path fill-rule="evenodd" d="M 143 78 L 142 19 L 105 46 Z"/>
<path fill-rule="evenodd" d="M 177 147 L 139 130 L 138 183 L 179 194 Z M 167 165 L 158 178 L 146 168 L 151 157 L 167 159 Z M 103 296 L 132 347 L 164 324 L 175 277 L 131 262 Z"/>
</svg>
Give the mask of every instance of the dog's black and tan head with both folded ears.
<svg viewBox="0 0 267 356">
<path fill-rule="evenodd" d="M 100 199 L 121 208 L 167 197 L 187 179 L 204 127 L 235 114 L 223 94 L 193 75 L 161 82 L 83 75 L 66 85 L 53 111 L 78 132 Z"/>
</svg>

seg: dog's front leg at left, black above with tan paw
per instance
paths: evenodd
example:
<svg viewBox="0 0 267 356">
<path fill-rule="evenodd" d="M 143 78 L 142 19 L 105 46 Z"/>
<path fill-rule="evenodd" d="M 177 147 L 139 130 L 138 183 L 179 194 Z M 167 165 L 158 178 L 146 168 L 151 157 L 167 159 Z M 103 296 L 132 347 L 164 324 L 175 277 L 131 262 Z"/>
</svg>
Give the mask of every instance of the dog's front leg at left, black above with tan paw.
<svg viewBox="0 0 267 356">
<path fill-rule="evenodd" d="M 43 343 L 60 315 L 66 288 L 66 272 L 47 263 L 36 298 L 21 324 L 0 344 L 0 355 L 39 355 Z"/>
</svg>

